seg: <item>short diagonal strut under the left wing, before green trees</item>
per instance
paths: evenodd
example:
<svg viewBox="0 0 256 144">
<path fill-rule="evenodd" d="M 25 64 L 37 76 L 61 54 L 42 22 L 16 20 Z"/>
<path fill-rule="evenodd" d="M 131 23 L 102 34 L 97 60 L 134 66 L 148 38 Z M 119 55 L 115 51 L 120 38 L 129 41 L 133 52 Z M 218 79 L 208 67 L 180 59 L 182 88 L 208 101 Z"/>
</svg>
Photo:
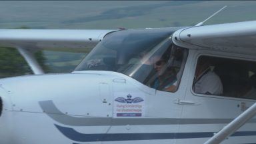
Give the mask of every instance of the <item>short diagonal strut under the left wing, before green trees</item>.
<svg viewBox="0 0 256 144">
<path fill-rule="evenodd" d="M 40 67 L 39 63 L 37 63 L 37 60 L 35 59 L 33 53 L 31 51 L 24 49 L 23 47 L 17 47 L 19 53 L 25 58 L 27 63 L 29 64 L 29 67 L 32 69 L 33 73 L 35 75 L 43 74 L 43 69 Z"/>
</svg>

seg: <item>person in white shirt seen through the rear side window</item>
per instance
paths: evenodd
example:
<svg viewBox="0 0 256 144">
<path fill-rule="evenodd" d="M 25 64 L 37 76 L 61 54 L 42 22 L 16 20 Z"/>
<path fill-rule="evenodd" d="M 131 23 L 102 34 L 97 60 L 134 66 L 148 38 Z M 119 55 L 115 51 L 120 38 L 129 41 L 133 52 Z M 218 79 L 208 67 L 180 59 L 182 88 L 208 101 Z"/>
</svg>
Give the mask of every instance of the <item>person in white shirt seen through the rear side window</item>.
<svg viewBox="0 0 256 144">
<path fill-rule="evenodd" d="M 209 57 L 201 57 L 198 61 L 193 90 L 195 93 L 207 95 L 222 95 L 223 93 L 221 79 L 214 71 L 211 71 Z"/>
</svg>

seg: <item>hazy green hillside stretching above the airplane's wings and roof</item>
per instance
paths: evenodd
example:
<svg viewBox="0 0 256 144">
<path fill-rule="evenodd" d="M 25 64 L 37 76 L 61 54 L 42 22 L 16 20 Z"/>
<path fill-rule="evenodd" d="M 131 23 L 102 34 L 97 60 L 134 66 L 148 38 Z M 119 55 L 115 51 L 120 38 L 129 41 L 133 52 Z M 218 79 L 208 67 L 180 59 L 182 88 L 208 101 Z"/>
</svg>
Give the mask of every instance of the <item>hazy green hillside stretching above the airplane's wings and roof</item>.
<svg viewBox="0 0 256 144">
<path fill-rule="evenodd" d="M 0 1 L 0 28 L 117 29 L 256 19 L 256 1 Z"/>
</svg>

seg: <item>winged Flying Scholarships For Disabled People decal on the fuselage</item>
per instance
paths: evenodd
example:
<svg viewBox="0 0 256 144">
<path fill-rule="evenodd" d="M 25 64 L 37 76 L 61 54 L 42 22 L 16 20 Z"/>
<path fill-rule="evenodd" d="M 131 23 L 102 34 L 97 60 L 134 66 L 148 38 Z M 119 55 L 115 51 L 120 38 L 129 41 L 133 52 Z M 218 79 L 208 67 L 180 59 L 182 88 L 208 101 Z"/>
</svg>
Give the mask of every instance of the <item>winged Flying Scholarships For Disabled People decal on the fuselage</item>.
<svg viewBox="0 0 256 144">
<path fill-rule="evenodd" d="M 143 117 L 145 114 L 144 93 L 123 93 L 114 95 L 114 117 Z"/>
</svg>

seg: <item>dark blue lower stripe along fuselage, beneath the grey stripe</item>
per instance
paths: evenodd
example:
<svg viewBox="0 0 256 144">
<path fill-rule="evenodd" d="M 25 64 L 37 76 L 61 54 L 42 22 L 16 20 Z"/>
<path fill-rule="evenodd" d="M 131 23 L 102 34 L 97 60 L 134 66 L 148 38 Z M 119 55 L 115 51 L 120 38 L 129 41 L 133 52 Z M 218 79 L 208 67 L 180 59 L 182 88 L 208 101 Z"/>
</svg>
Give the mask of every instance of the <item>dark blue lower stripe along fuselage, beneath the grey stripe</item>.
<svg viewBox="0 0 256 144">
<path fill-rule="evenodd" d="M 92 142 L 92 141 L 135 141 L 151 139 L 192 139 L 213 137 L 214 132 L 199 133 L 95 133 L 83 134 L 69 127 L 61 127 L 55 124 L 55 127 L 66 137 L 73 141 Z M 256 135 L 256 131 L 238 131 L 231 136 L 249 136 Z"/>
</svg>

